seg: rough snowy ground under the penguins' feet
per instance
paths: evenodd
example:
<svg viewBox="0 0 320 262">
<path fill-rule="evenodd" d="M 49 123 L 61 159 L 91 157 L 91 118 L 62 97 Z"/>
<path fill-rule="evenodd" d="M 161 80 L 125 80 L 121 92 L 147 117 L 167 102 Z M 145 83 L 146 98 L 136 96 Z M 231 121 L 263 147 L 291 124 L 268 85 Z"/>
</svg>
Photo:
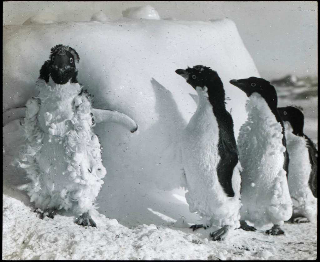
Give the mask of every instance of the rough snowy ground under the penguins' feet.
<svg viewBox="0 0 320 262">
<path fill-rule="evenodd" d="M 20 192 L 13 192 L 16 195 Z M 6 194 L 10 193 L 7 191 Z M 23 197 L 19 196 L 20 199 Z M 40 220 L 20 200 L 4 195 L 3 250 L 6 260 L 308 260 L 317 256 L 316 225 L 285 223 L 285 235 L 231 230 L 229 238 L 208 240 L 208 230 L 140 225 L 92 215 L 97 228 L 73 224 L 73 217 Z M 181 221 L 181 225 L 183 225 Z"/>
</svg>

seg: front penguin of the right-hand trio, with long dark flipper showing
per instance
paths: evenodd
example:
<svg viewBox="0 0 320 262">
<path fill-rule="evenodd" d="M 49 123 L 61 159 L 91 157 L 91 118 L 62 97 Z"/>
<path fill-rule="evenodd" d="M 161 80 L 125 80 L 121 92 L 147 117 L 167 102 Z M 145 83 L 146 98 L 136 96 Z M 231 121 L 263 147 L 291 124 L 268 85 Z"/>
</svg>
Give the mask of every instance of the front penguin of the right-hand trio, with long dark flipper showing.
<svg viewBox="0 0 320 262">
<path fill-rule="evenodd" d="M 223 240 L 240 226 L 240 163 L 233 120 L 225 105 L 225 92 L 216 71 L 203 65 L 175 71 L 198 93 L 198 105 L 181 137 L 182 162 L 186 174 L 186 199 L 190 212 L 203 224 L 222 227 L 210 234 Z"/>
</svg>

